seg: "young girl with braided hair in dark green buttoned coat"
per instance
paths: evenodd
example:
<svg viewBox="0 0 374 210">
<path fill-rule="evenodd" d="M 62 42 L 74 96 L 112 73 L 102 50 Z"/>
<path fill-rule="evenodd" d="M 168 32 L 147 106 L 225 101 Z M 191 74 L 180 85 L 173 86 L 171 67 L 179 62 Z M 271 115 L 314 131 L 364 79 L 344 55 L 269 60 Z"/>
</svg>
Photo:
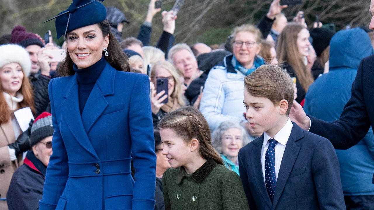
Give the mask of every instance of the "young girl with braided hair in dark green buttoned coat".
<svg viewBox="0 0 374 210">
<path fill-rule="evenodd" d="M 165 210 L 249 209 L 239 176 L 223 165 L 197 109 L 168 112 L 159 128 L 162 153 L 172 167 L 162 176 Z"/>
</svg>

